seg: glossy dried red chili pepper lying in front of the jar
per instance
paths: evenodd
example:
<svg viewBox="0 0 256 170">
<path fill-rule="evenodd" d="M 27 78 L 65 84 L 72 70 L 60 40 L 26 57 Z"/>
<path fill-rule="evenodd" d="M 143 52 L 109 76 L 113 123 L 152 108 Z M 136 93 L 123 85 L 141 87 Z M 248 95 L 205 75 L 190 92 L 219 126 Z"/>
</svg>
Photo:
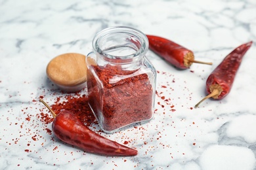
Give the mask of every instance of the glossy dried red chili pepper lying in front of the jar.
<svg viewBox="0 0 256 170">
<path fill-rule="evenodd" d="M 137 150 L 106 139 L 98 135 L 81 122 L 72 112 L 63 110 L 55 114 L 54 111 L 39 99 L 53 114 L 53 133 L 65 143 L 72 144 L 86 152 L 102 154 L 106 156 L 135 156 Z"/>
</svg>

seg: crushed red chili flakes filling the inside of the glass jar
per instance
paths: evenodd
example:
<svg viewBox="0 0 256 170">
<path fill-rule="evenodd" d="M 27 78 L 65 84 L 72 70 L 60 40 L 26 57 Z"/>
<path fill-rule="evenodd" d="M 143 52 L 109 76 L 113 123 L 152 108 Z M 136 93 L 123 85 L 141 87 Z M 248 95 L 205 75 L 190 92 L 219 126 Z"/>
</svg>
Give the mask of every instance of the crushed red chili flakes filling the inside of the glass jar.
<svg viewBox="0 0 256 170">
<path fill-rule="evenodd" d="M 146 73 L 138 74 L 137 70 L 127 71 L 113 65 L 92 67 L 102 85 L 87 71 L 89 105 L 104 131 L 152 118 L 153 88 Z M 118 80 L 111 82 L 115 78 Z"/>
</svg>

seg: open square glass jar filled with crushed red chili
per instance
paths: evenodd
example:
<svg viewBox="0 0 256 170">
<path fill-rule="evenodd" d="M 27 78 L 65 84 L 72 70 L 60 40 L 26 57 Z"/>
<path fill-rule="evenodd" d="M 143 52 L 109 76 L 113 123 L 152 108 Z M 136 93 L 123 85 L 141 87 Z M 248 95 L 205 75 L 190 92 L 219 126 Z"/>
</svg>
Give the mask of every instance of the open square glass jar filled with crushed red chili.
<svg viewBox="0 0 256 170">
<path fill-rule="evenodd" d="M 86 58 L 89 105 L 106 133 L 153 117 L 156 69 L 148 39 L 132 27 L 109 27 L 93 39 Z"/>
</svg>

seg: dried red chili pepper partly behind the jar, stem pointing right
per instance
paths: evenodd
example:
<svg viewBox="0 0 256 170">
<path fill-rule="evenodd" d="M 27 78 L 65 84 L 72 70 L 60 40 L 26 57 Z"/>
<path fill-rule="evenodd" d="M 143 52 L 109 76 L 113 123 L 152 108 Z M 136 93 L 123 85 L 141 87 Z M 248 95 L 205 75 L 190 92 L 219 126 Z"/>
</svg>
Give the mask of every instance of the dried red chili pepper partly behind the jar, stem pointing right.
<svg viewBox="0 0 256 170">
<path fill-rule="evenodd" d="M 194 53 L 183 46 L 154 35 L 146 35 L 149 41 L 149 48 L 161 58 L 179 69 L 188 69 L 192 63 L 203 63 L 212 65 L 212 63 L 194 60 Z"/>
</svg>

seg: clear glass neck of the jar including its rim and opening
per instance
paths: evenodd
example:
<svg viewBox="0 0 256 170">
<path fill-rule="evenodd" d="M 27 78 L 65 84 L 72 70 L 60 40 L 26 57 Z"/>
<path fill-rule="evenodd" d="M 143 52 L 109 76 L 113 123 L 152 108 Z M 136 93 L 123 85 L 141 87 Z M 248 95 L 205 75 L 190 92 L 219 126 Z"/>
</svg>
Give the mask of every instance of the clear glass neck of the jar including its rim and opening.
<svg viewBox="0 0 256 170">
<path fill-rule="evenodd" d="M 139 65 L 148 51 L 148 38 L 132 27 L 109 27 L 93 39 L 99 62 L 112 65 Z"/>
</svg>

